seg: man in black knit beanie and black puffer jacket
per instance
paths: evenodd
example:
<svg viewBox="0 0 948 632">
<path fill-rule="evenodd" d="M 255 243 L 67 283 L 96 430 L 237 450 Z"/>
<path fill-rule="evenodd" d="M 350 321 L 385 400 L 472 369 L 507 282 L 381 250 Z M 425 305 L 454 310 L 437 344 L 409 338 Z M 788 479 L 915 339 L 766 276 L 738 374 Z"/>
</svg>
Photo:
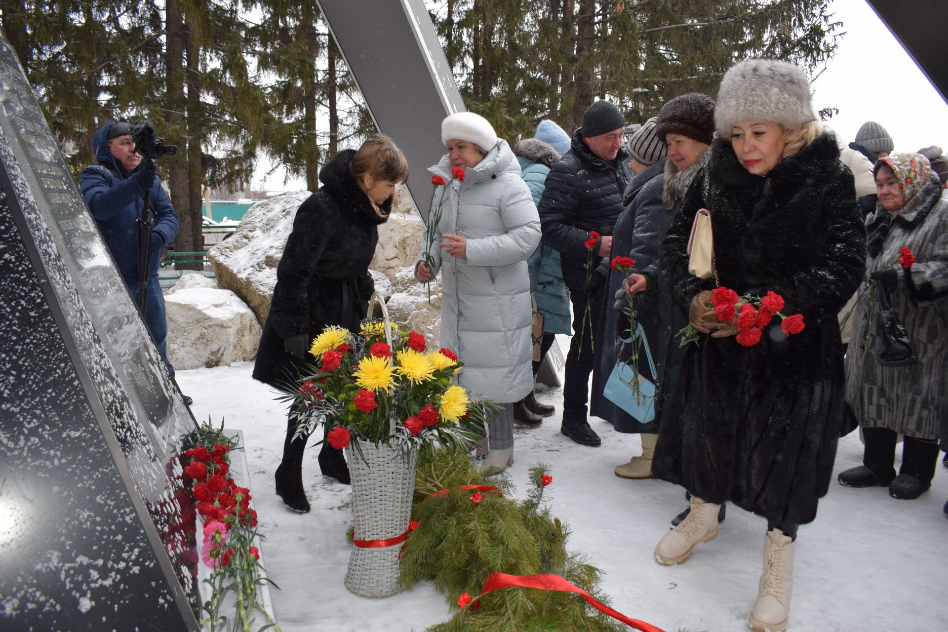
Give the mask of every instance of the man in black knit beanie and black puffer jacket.
<svg viewBox="0 0 948 632">
<path fill-rule="evenodd" d="M 605 283 L 596 272 L 586 282 L 586 263 L 592 258 L 594 269 L 600 258 L 611 254 L 612 226 L 623 210 L 622 193 L 629 180 L 629 153 L 622 143 L 625 131 L 626 120 L 619 108 L 606 100 L 595 101 L 583 114 L 583 126 L 574 132 L 570 151 L 547 175 L 538 205 L 542 243 L 560 252 L 563 280 L 573 302 L 573 339 L 566 356 L 560 431 L 583 445 L 600 443 L 587 420 L 586 404 L 593 332 Z M 586 243 L 593 231 L 599 238 L 590 252 Z"/>
</svg>

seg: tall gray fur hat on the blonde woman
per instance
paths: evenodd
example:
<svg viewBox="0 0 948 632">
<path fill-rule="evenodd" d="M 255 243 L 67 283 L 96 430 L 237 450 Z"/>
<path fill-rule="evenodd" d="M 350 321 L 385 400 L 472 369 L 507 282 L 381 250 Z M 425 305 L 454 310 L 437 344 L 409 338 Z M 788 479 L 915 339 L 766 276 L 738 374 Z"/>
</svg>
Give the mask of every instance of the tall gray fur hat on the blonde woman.
<svg viewBox="0 0 948 632">
<path fill-rule="evenodd" d="M 793 63 L 746 60 L 720 81 L 714 110 L 718 135 L 727 138 L 738 120 L 771 120 L 794 130 L 816 120 L 810 80 Z"/>
</svg>

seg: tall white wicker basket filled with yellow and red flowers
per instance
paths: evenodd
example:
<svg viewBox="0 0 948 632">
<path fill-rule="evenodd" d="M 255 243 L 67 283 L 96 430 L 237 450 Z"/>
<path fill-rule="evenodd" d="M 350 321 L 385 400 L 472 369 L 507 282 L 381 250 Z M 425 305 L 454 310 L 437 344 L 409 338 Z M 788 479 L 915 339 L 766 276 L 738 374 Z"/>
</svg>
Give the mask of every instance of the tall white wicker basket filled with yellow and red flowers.
<svg viewBox="0 0 948 632">
<path fill-rule="evenodd" d="M 472 403 L 454 383 L 463 366 L 454 352 L 428 351 L 424 336 L 392 327 L 388 316 L 363 321 L 357 334 L 327 327 L 310 348 L 318 364 L 284 396 L 297 436 L 324 425 L 326 441 L 346 450 L 356 526 L 345 585 L 370 597 L 400 589 L 419 453 L 428 458 L 435 443 L 466 451 L 479 437 L 462 420 L 483 422 L 495 407 Z"/>
</svg>

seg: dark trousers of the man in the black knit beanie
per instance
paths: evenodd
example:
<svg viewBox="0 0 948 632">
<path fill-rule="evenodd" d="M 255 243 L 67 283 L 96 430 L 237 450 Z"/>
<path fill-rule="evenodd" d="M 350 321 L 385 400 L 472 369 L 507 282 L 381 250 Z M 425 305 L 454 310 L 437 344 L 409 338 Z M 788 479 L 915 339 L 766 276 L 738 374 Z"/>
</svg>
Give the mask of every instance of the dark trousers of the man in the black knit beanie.
<svg viewBox="0 0 948 632">
<path fill-rule="evenodd" d="M 564 422 L 585 422 L 587 418 L 586 403 L 589 401 L 590 373 L 593 372 L 595 358 L 593 338 L 599 327 L 603 305 L 603 284 L 596 285 L 595 274 L 593 272 L 593 289 L 589 295 L 590 314 L 584 325 L 587 296 L 586 270 L 563 266 L 563 280 L 566 281 L 566 288 L 570 291 L 570 301 L 573 303 L 573 338 L 570 340 L 570 352 L 566 354 L 563 384 Z"/>
</svg>

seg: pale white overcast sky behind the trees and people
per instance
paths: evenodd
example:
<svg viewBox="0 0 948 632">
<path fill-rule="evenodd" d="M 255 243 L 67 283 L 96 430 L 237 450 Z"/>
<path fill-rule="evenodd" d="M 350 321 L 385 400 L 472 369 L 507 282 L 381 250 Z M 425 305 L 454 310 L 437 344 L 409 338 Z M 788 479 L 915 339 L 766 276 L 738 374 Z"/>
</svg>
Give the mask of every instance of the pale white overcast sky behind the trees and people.
<svg viewBox="0 0 948 632">
<path fill-rule="evenodd" d="M 813 105 L 817 110 L 839 109 L 829 121 L 837 135 L 852 141 L 863 123 L 874 120 L 892 136 L 897 151 L 917 152 L 929 145 L 948 150 L 948 104 L 866 0 L 833 0 L 830 10 L 846 34 L 826 71 L 813 82 Z M 267 162 L 262 156 L 255 188 L 261 185 Z M 279 170 L 264 187 L 301 190 L 305 183 L 294 179 L 284 187 Z"/>
</svg>

